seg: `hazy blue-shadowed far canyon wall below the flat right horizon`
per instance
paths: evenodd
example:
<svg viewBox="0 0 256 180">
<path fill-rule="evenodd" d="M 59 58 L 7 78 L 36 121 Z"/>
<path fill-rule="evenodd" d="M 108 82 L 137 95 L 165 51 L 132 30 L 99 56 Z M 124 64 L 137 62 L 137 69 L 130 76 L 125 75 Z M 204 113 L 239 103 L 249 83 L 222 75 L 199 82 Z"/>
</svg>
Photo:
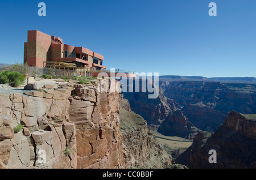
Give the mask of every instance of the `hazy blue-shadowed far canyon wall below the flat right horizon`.
<svg viewBox="0 0 256 180">
<path fill-rule="evenodd" d="M 255 84 L 161 80 L 164 96 L 174 99 L 197 128 L 215 131 L 231 110 L 256 113 Z"/>
</svg>

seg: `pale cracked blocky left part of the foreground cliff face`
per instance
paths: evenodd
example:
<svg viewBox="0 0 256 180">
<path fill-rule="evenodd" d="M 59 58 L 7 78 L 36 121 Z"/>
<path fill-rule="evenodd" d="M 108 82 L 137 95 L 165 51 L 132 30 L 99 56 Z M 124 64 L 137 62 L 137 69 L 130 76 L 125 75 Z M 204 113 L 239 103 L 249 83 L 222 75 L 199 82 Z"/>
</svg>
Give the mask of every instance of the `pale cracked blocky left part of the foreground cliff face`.
<svg viewBox="0 0 256 180">
<path fill-rule="evenodd" d="M 64 153 L 66 148 L 76 147 L 75 126 L 68 122 L 71 91 L 46 89 L 34 93 L 0 96 L 0 119 L 6 129 L 0 139 L 2 167 L 75 168 L 75 151 L 68 156 Z M 14 132 L 19 125 L 23 128 Z"/>
</svg>

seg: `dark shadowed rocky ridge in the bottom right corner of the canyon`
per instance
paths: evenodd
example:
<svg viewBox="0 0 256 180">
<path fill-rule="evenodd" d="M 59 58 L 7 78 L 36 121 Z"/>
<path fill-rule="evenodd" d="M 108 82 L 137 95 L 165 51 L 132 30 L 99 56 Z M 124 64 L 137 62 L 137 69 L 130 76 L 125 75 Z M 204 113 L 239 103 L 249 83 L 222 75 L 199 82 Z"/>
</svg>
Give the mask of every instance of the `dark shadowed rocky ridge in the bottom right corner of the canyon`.
<svg viewBox="0 0 256 180">
<path fill-rule="evenodd" d="M 256 115 L 230 112 L 212 134 L 199 131 L 193 144 L 175 162 L 189 168 L 256 168 Z M 209 163 L 209 151 L 216 163 Z"/>
</svg>

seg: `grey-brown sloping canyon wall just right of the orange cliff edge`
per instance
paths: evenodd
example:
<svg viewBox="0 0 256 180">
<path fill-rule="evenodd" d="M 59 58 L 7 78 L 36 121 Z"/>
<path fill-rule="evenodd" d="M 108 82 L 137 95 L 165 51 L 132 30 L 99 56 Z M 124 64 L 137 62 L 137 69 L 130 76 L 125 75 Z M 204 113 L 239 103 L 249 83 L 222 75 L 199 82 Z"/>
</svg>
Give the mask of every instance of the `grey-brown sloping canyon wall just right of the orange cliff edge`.
<svg viewBox="0 0 256 180">
<path fill-rule="evenodd" d="M 127 168 L 165 168 L 171 165 L 171 156 L 156 143 L 147 122 L 131 111 L 124 98 L 121 99 L 120 131 Z"/>
</svg>

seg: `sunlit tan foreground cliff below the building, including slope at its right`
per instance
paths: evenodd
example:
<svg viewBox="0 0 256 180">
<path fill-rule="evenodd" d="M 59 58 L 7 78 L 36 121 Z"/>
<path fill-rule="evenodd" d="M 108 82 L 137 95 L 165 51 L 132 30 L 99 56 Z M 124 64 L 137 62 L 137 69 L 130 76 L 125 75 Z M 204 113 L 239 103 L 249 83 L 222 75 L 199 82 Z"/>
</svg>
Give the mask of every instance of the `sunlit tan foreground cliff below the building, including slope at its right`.
<svg viewBox="0 0 256 180">
<path fill-rule="evenodd" d="M 171 165 L 117 81 L 39 81 L 24 89 L 0 89 L 0 168 Z"/>
</svg>

